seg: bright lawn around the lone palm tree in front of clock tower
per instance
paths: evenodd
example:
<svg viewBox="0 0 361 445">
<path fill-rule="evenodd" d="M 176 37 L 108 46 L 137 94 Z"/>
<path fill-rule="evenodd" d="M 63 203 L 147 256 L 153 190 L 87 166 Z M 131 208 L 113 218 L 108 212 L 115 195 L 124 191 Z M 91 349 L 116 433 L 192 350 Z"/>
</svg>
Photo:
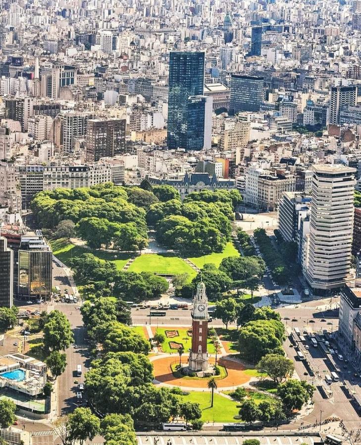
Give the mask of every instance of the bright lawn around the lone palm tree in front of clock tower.
<svg viewBox="0 0 361 445">
<path fill-rule="evenodd" d="M 214 394 L 213 408 L 210 407 L 210 393 L 191 392 L 188 396 L 180 396 L 184 401 L 197 402 L 202 409 L 204 422 L 236 422 L 239 402 Z"/>
</svg>

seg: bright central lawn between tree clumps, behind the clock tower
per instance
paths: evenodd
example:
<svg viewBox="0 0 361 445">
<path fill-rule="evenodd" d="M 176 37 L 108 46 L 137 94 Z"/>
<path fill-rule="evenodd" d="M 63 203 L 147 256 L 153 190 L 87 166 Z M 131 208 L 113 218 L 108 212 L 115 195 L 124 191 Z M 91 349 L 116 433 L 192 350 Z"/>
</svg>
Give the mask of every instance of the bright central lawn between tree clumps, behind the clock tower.
<svg viewBox="0 0 361 445">
<path fill-rule="evenodd" d="M 141 255 L 135 259 L 128 270 L 132 272 L 168 273 L 170 275 L 188 273 L 190 279 L 197 275 L 197 272 L 181 258 L 167 254 Z"/>
</svg>

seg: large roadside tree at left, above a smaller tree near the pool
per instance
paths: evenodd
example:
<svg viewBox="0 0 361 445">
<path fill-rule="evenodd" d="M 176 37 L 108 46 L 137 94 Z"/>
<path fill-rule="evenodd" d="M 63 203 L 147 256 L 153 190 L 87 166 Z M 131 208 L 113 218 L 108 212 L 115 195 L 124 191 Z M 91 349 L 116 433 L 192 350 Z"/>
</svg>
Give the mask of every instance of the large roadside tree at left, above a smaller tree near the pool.
<svg viewBox="0 0 361 445">
<path fill-rule="evenodd" d="M 69 320 L 57 310 L 48 315 L 44 325 L 43 343 L 46 351 L 63 351 L 74 341 Z"/>
</svg>

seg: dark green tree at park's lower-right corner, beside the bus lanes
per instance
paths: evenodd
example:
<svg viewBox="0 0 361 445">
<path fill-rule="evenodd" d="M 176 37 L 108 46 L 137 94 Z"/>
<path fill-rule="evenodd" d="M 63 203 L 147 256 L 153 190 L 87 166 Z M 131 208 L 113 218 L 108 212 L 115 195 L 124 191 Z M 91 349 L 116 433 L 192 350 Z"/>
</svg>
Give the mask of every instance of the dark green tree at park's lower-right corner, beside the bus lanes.
<svg viewBox="0 0 361 445">
<path fill-rule="evenodd" d="M 312 397 L 314 389 L 306 380 L 290 379 L 278 385 L 277 395 L 286 414 L 290 415 L 294 409 L 300 410 Z"/>
</svg>

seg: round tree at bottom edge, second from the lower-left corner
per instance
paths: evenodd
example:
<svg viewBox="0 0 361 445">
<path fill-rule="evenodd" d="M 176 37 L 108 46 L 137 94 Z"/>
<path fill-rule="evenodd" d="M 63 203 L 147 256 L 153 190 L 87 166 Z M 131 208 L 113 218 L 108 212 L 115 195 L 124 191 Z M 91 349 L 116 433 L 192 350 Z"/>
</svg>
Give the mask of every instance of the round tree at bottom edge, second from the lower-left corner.
<svg viewBox="0 0 361 445">
<path fill-rule="evenodd" d="M 92 441 L 100 433 L 100 420 L 89 408 L 76 408 L 69 414 L 67 427 L 72 441 Z"/>
</svg>

